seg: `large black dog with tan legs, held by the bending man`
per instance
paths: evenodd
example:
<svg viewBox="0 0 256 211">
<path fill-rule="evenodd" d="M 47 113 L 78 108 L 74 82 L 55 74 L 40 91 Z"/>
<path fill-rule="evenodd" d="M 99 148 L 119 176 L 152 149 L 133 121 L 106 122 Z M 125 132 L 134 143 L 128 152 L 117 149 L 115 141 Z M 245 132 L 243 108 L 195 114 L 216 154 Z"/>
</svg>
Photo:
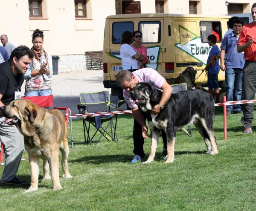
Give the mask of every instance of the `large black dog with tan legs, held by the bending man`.
<svg viewBox="0 0 256 211">
<path fill-rule="evenodd" d="M 160 90 L 150 84 L 140 82 L 135 84 L 130 91 L 132 98 L 147 113 L 148 125 L 151 130 L 151 149 L 145 163 L 154 160 L 160 131 L 165 130 L 167 135 L 166 163 L 174 160 L 176 142 L 176 130 L 189 123 L 193 123 L 204 139 L 207 153 L 215 155 L 218 153 L 216 138 L 213 133 L 214 101 L 211 95 L 201 90 L 186 90 L 172 94 L 159 114 L 150 113 L 153 107 L 159 103 L 162 96 Z"/>
</svg>

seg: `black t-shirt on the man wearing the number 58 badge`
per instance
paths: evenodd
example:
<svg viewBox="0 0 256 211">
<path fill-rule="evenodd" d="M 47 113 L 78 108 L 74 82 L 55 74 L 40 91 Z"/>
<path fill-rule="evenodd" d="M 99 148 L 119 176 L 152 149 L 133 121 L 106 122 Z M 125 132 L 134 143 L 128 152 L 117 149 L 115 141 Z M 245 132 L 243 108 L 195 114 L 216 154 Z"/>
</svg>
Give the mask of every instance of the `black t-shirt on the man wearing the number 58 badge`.
<svg viewBox="0 0 256 211">
<path fill-rule="evenodd" d="M 14 75 L 11 62 L 7 60 L 0 64 L 0 94 L 3 95 L 3 104 L 7 105 L 14 100 L 15 91 L 21 90 L 24 77 L 21 74 Z"/>
</svg>

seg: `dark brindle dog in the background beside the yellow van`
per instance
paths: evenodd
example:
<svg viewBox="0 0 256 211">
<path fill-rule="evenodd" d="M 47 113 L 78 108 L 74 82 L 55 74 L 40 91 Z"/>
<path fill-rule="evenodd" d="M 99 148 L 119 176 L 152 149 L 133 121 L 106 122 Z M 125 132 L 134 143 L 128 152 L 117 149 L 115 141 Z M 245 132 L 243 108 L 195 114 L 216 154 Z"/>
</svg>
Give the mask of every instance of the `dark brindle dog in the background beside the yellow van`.
<svg viewBox="0 0 256 211">
<path fill-rule="evenodd" d="M 193 84 L 195 83 L 195 75 L 195 69 L 189 66 L 183 72 L 181 72 L 177 78 L 167 78 L 166 82 L 170 85 L 186 83 L 187 89 L 191 90 L 193 88 Z"/>
</svg>

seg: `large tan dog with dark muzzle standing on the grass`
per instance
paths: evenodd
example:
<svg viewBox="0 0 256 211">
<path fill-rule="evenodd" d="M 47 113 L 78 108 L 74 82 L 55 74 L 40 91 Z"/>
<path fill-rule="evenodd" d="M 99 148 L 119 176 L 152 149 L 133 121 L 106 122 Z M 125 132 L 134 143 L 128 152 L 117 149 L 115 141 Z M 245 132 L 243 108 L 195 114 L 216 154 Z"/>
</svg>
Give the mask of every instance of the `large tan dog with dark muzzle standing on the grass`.
<svg viewBox="0 0 256 211">
<path fill-rule="evenodd" d="M 38 189 L 39 158 L 43 159 L 43 179 L 52 179 L 53 190 L 62 189 L 58 169 L 59 149 L 62 154 L 63 177 L 72 176 L 67 166 L 67 127 L 61 111 L 46 110 L 26 99 L 14 100 L 9 105 L 0 107 L 0 111 L 2 116 L 7 118 L 5 124 L 17 124 L 17 128 L 24 136 L 31 169 L 30 187 L 25 192 Z M 50 169 L 52 177 L 49 175 Z"/>
</svg>

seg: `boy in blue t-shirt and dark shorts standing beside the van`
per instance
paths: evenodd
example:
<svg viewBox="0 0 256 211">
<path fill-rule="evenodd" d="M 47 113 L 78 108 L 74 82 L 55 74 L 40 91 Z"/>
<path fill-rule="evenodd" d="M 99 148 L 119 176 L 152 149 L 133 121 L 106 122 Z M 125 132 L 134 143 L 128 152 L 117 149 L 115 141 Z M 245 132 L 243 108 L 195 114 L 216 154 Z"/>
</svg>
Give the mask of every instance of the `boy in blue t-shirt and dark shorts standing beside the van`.
<svg viewBox="0 0 256 211">
<path fill-rule="evenodd" d="M 218 73 L 220 72 L 220 64 L 219 59 L 216 58 L 216 55 L 220 55 L 220 49 L 216 45 L 217 38 L 215 35 L 209 35 L 207 37 L 209 46 L 212 47 L 209 57 L 207 59 L 207 67 L 208 67 L 208 81 L 207 81 L 207 87 L 209 88 L 209 93 L 211 95 L 218 94 L 219 93 L 219 87 L 218 87 Z"/>
</svg>

